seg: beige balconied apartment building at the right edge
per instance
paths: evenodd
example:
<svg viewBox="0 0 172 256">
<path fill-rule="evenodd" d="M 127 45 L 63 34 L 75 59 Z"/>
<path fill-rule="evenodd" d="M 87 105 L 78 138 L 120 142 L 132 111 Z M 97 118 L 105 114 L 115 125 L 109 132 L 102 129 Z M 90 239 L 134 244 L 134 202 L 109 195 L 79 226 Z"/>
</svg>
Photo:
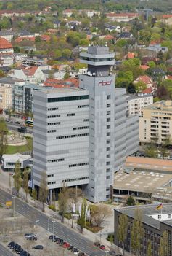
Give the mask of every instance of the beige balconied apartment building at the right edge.
<svg viewBox="0 0 172 256">
<path fill-rule="evenodd" d="M 172 101 L 158 101 L 144 107 L 139 117 L 139 142 L 161 144 L 172 139 Z"/>
</svg>

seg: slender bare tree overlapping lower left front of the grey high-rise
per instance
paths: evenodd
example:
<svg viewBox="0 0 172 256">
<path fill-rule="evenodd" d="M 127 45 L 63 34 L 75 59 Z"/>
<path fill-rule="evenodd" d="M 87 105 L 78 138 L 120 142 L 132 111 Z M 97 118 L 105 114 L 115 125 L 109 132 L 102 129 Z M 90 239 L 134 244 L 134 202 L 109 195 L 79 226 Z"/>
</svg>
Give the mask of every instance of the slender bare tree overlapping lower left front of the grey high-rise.
<svg viewBox="0 0 172 256">
<path fill-rule="evenodd" d="M 39 187 L 38 199 L 42 203 L 42 212 L 45 212 L 45 203 L 48 196 L 48 188 L 46 181 L 46 173 L 42 172 L 41 182 Z"/>
</svg>

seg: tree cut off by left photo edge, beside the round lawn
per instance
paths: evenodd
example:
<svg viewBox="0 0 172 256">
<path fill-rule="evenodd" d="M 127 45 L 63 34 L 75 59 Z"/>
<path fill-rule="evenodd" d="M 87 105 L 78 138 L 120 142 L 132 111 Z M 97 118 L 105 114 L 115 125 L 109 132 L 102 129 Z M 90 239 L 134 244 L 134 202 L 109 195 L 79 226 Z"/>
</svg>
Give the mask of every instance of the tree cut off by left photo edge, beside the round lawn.
<svg viewBox="0 0 172 256">
<path fill-rule="evenodd" d="M 0 163 L 1 157 L 7 150 L 7 125 L 4 118 L 0 118 Z"/>
</svg>

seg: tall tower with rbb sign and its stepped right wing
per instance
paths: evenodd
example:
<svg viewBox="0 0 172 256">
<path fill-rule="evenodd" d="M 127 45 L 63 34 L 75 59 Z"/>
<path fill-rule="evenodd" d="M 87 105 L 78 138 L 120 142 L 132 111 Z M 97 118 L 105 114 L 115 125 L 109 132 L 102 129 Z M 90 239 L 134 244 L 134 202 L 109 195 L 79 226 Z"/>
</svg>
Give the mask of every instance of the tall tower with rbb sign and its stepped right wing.
<svg viewBox="0 0 172 256">
<path fill-rule="evenodd" d="M 110 74 L 114 53 L 108 47 L 92 46 L 80 56 L 81 63 L 88 64 L 80 88 L 89 90 L 89 185 L 85 191 L 90 201 L 99 202 L 110 198 L 113 174 L 126 155 L 138 150 L 139 119 L 127 119 L 126 90 L 115 88 Z"/>
</svg>

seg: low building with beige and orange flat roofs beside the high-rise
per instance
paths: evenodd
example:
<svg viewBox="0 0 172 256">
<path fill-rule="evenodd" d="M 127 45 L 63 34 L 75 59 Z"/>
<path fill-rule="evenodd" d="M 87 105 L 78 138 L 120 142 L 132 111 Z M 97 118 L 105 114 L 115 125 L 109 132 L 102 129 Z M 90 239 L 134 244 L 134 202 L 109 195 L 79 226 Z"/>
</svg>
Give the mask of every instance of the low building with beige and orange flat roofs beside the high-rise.
<svg viewBox="0 0 172 256">
<path fill-rule="evenodd" d="M 172 161 L 156 158 L 128 157 L 115 173 L 113 201 L 126 202 L 132 195 L 139 203 L 172 201 Z"/>
</svg>

